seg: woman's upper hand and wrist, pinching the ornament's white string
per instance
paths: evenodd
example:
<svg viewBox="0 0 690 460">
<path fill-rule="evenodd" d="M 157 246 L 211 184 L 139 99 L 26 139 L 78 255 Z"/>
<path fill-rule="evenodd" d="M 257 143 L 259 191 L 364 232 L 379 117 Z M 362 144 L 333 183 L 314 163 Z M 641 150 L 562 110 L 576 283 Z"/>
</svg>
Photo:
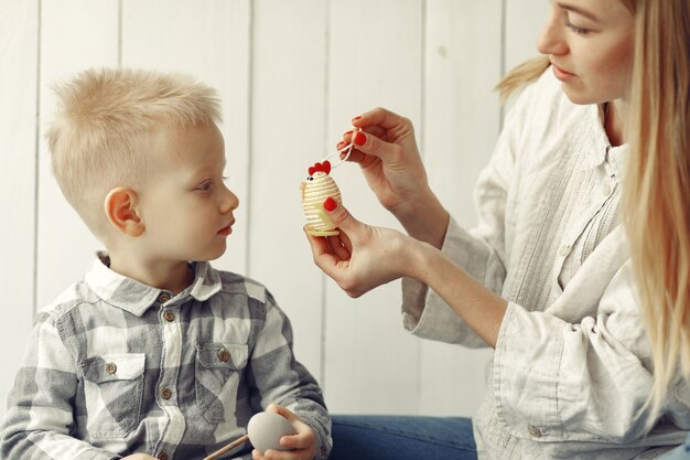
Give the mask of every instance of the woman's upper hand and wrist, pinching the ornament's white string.
<svg viewBox="0 0 690 460">
<path fill-rule="evenodd" d="M 429 188 L 412 122 L 384 108 L 353 119 L 338 149 L 353 142 L 348 161 L 358 163 L 380 201 L 417 239 L 440 247 L 449 215 Z"/>
</svg>

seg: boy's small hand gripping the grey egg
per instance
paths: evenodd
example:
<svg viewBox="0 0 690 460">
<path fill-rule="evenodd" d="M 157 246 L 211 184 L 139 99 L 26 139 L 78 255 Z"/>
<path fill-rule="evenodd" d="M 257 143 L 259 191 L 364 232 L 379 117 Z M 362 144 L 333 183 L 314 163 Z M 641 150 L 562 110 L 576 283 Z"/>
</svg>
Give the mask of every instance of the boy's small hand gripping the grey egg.
<svg viewBox="0 0 690 460">
<path fill-rule="evenodd" d="M 316 436 L 300 417 L 277 404 L 270 404 L 266 411 L 278 414 L 288 419 L 294 427 L 297 435 L 280 438 L 280 445 L 292 450 L 267 450 L 261 453 L 255 449 L 251 452 L 254 460 L 312 460 L 316 456 Z"/>
</svg>

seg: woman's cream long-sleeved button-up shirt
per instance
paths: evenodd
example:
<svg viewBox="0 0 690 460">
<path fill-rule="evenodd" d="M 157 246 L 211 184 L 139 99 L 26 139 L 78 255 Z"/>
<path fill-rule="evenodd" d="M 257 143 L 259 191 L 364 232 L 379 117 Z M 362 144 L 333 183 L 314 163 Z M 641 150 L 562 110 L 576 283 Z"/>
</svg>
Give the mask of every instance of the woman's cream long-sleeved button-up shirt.
<svg viewBox="0 0 690 460">
<path fill-rule="evenodd" d="M 549 69 L 479 176 L 477 227 L 451 220 L 442 250 L 508 300 L 473 420 L 482 460 L 654 458 L 690 429 L 680 378 L 665 424 L 645 427 L 651 359 L 618 215 L 627 154 L 611 147 L 601 108 L 572 104 Z M 402 287 L 412 333 L 486 346 L 435 292 Z"/>
</svg>

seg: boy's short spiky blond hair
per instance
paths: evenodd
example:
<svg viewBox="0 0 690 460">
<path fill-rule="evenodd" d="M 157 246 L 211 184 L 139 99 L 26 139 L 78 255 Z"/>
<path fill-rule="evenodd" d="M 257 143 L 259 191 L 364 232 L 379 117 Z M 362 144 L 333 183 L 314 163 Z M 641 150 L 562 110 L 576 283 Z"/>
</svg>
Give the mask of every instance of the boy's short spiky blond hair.
<svg viewBox="0 0 690 460">
<path fill-rule="evenodd" d="M 155 133 L 220 120 L 216 90 L 183 74 L 88 69 L 54 90 L 57 111 L 46 133 L 53 173 L 100 239 L 108 232 L 108 192 L 141 184 Z"/>
</svg>

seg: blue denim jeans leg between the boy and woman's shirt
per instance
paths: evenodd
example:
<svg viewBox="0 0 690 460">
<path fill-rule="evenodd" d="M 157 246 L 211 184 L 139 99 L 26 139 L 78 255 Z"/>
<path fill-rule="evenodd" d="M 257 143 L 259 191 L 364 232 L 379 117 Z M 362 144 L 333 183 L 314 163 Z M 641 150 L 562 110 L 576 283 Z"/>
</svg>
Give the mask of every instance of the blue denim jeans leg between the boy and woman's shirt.
<svg viewBox="0 0 690 460">
<path fill-rule="evenodd" d="M 472 419 L 333 416 L 330 460 L 476 460 Z"/>
</svg>

